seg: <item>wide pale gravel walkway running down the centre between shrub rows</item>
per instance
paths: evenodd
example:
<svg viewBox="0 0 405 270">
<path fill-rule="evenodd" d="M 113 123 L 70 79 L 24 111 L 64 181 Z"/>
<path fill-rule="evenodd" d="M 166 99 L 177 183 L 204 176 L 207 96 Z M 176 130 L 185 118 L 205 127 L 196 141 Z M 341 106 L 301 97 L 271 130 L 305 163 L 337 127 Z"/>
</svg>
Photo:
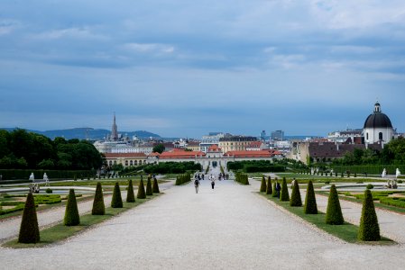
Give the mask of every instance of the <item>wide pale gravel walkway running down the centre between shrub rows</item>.
<svg viewBox="0 0 405 270">
<path fill-rule="evenodd" d="M 260 183 L 260 182 L 259 182 Z M 403 269 L 403 245 L 347 244 L 272 206 L 256 184 L 201 181 L 59 245 L 0 248 L 1 269 Z M 402 227 L 398 224 L 398 229 Z"/>
</svg>

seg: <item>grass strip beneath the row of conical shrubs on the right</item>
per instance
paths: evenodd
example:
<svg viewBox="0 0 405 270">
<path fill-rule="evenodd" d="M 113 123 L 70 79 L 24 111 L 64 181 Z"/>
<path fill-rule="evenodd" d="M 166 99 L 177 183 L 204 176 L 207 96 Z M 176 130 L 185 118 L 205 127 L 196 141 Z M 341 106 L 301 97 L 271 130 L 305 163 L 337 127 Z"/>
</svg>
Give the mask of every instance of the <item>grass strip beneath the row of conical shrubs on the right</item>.
<svg viewBox="0 0 405 270">
<path fill-rule="evenodd" d="M 341 238 L 342 240 L 349 243 L 361 243 L 361 244 L 372 244 L 372 245 L 390 245 L 395 244 L 389 238 L 382 238 L 378 242 L 363 242 L 357 239 L 357 233 L 359 230 L 358 226 L 354 224 L 345 222 L 344 225 L 328 225 L 325 222 L 326 214 L 318 211 L 319 213 L 314 214 L 305 214 L 303 207 L 291 207 L 290 202 L 280 202 L 278 198 L 273 198 L 272 195 L 266 195 L 266 193 L 260 193 L 266 199 L 275 202 L 276 204 L 283 207 L 285 210 L 290 211 L 291 213 L 297 215 L 299 218 L 308 221 L 309 223 L 317 226 L 319 229 L 325 230 L 328 234 L 335 236 L 336 238 Z"/>
</svg>

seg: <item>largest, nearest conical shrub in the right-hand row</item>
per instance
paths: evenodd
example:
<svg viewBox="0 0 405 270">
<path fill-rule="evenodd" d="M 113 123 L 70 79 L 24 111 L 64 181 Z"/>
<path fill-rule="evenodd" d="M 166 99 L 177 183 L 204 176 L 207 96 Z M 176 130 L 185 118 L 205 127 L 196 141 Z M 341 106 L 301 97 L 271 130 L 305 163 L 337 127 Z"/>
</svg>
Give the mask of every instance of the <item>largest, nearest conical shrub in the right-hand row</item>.
<svg viewBox="0 0 405 270">
<path fill-rule="evenodd" d="M 375 213 L 373 195 L 369 189 L 364 192 L 362 217 L 358 237 L 362 241 L 379 241 L 380 227 L 378 225 L 377 214 Z"/>
</svg>

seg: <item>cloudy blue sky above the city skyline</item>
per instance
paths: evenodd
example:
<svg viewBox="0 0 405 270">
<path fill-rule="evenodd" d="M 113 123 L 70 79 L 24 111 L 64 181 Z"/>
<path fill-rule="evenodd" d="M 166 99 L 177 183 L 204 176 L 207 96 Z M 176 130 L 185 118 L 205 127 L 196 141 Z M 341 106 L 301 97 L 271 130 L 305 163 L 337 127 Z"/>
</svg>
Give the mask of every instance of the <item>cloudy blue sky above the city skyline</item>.
<svg viewBox="0 0 405 270">
<path fill-rule="evenodd" d="M 3 0 L 0 127 L 405 130 L 405 1 Z"/>
</svg>

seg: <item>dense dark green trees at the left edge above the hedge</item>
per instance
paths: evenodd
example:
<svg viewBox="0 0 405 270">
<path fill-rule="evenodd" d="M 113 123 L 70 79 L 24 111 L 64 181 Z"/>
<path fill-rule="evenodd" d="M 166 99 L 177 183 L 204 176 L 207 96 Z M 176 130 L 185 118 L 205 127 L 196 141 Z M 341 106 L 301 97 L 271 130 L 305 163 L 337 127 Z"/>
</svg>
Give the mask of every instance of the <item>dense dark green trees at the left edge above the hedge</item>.
<svg viewBox="0 0 405 270">
<path fill-rule="evenodd" d="M 103 157 L 86 140 L 55 138 L 26 130 L 0 130 L 0 168 L 97 169 Z"/>
</svg>

